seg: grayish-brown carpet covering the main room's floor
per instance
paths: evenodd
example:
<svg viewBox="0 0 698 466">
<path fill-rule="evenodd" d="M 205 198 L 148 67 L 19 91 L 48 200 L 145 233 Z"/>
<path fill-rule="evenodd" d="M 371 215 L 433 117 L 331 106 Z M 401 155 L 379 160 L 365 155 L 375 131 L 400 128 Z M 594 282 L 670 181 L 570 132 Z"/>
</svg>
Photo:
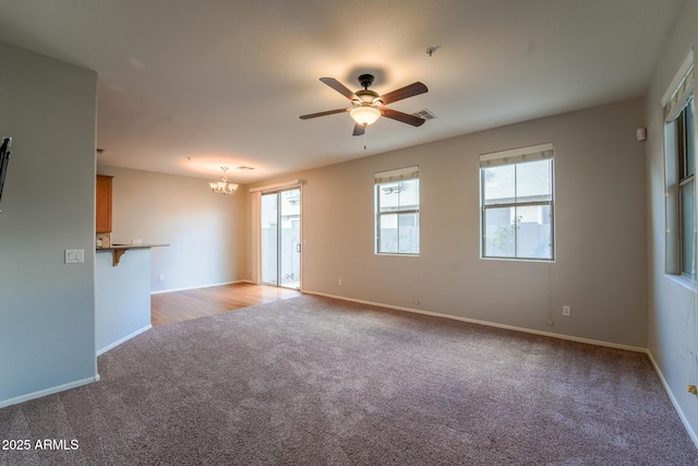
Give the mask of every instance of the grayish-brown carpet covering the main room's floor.
<svg viewBox="0 0 698 466">
<path fill-rule="evenodd" d="M 164 325 L 0 409 L 0 464 L 695 465 L 646 355 L 301 296 Z"/>
</svg>

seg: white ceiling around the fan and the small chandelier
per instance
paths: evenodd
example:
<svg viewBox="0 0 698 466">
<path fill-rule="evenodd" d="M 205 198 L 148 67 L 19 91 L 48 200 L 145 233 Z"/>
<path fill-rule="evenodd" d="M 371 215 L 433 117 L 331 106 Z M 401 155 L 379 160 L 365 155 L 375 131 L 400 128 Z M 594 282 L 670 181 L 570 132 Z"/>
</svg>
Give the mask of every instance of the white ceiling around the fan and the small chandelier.
<svg viewBox="0 0 698 466">
<path fill-rule="evenodd" d="M 246 183 L 640 96 L 683 2 L 0 0 L 0 40 L 98 72 L 100 164 Z M 298 118 L 364 72 L 437 119 Z"/>
</svg>

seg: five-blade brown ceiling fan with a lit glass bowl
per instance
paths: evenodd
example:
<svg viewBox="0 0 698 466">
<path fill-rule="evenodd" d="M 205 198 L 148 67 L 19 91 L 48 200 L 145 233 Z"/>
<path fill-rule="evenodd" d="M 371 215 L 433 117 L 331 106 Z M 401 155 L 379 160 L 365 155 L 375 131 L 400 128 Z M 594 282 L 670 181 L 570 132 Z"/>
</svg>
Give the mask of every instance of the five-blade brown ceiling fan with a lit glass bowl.
<svg viewBox="0 0 698 466">
<path fill-rule="evenodd" d="M 317 113 L 302 115 L 300 117 L 301 120 L 308 120 L 311 118 L 324 117 L 334 113 L 344 113 L 345 111 L 348 111 L 356 122 L 353 127 L 354 136 L 364 134 L 365 128 L 369 124 L 375 122 L 382 116 L 392 120 L 401 121 L 402 123 L 411 124 L 413 127 L 420 127 L 424 124 L 425 120 L 423 118 L 404 113 L 401 111 L 393 110 L 385 107 L 386 105 L 394 101 L 402 100 L 404 98 L 413 97 L 416 95 L 428 92 L 429 89 L 426 88 L 426 86 L 419 81 L 383 95 L 378 95 L 378 93 L 369 89 L 369 86 L 373 84 L 372 74 L 362 74 L 359 76 L 359 83 L 361 84 L 363 89 L 357 91 L 356 93 L 351 92 L 349 88 L 347 88 L 347 86 L 345 86 L 334 77 L 321 77 L 320 81 L 327 84 L 329 87 L 351 100 L 351 107 L 321 111 Z"/>
</svg>

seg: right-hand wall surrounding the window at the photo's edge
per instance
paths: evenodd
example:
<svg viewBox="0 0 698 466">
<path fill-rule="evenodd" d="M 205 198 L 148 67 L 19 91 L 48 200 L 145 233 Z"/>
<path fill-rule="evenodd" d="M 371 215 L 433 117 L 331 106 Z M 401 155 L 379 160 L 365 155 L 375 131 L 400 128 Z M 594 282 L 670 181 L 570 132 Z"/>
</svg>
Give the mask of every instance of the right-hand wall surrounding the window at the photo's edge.
<svg viewBox="0 0 698 466">
<path fill-rule="evenodd" d="M 649 325 L 648 347 L 694 441 L 698 444 L 698 403 L 686 391 L 696 383 L 691 358 L 698 335 L 695 285 L 664 273 L 664 121 L 661 98 L 678 71 L 686 53 L 698 45 L 698 1 L 688 0 L 662 50 L 647 98 L 648 116 L 648 212 L 649 212 Z M 695 50 L 696 51 L 696 50 Z M 693 360 L 698 355 L 693 356 Z"/>
</svg>

